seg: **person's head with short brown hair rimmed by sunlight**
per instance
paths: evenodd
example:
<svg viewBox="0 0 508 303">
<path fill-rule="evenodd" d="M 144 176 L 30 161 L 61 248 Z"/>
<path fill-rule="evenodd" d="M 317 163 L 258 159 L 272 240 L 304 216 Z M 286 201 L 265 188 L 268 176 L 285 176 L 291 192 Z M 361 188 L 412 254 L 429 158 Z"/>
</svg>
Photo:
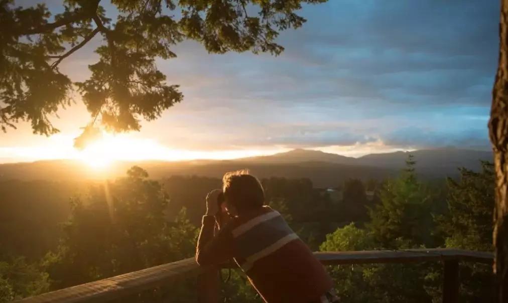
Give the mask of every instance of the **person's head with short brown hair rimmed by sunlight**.
<svg viewBox="0 0 508 303">
<path fill-rule="evenodd" d="M 261 208 L 265 204 L 263 186 L 247 170 L 226 173 L 223 192 L 228 211 L 233 215 Z"/>
</svg>

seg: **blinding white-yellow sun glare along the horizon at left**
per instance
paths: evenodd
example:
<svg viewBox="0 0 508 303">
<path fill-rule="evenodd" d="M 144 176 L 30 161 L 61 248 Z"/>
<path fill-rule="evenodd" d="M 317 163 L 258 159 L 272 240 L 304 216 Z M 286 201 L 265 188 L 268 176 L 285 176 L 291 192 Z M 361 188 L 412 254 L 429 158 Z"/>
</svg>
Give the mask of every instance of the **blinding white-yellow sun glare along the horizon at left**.
<svg viewBox="0 0 508 303">
<path fill-rule="evenodd" d="M 236 150 L 186 150 L 164 146 L 157 140 L 137 138 L 135 134 L 103 133 L 100 140 L 91 143 L 84 150 L 73 147 L 76 133 L 55 134 L 50 144 L 30 147 L 0 147 L 0 158 L 23 161 L 74 159 L 90 169 L 106 172 L 115 161 L 188 161 L 226 160 L 288 151 L 288 148 L 236 149 Z"/>
</svg>

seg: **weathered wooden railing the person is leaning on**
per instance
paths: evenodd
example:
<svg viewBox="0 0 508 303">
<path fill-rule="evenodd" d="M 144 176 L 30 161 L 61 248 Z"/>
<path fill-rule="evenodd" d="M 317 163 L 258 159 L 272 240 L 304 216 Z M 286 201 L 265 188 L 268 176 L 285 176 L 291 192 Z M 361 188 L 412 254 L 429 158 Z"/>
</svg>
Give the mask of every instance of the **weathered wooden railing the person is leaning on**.
<svg viewBox="0 0 508 303">
<path fill-rule="evenodd" d="M 459 263 L 477 262 L 492 264 L 493 254 L 459 249 L 374 250 L 348 252 L 316 252 L 324 265 L 417 263 L 440 261 L 444 265 L 443 302 L 457 303 L 459 298 Z M 107 302 L 168 285 L 169 283 L 198 277 L 198 301 L 216 303 L 219 299 L 217 268 L 202 268 L 194 258 L 146 268 L 108 279 L 60 289 L 19 300 L 19 303 L 84 303 Z"/>
</svg>

